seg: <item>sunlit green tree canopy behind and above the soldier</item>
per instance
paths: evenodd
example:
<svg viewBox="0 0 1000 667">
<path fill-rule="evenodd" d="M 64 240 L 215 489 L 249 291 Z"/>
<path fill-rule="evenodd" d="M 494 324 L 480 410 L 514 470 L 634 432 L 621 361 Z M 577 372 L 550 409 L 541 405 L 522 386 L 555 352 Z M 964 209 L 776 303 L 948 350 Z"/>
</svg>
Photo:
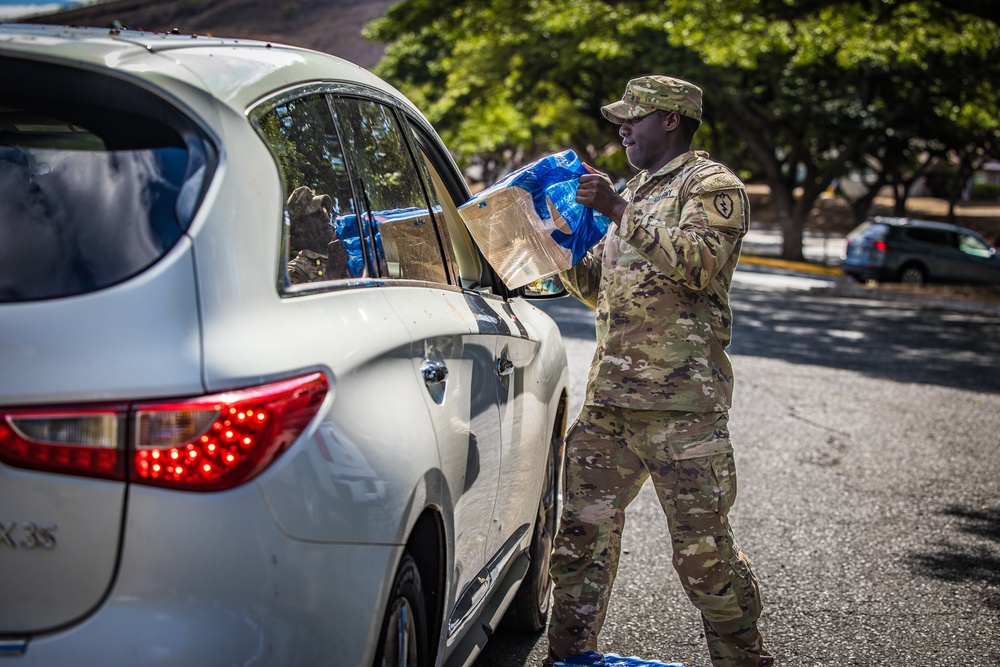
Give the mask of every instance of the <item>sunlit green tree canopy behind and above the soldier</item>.
<svg viewBox="0 0 1000 667">
<path fill-rule="evenodd" d="M 783 256 L 835 179 L 905 190 L 940 164 L 997 156 L 1000 10 L 944 0 L 404 0 L 369 24 L 377 72 L 460 160 L 574 148 L 628 165 L 600 107 L 664 73 L 705 90 L 702 148 L 766 182 Z M 858 198 L 859 215 L 865 210 Z M 870 199 L 868 200 L 870 203 Z"/>
</svg>

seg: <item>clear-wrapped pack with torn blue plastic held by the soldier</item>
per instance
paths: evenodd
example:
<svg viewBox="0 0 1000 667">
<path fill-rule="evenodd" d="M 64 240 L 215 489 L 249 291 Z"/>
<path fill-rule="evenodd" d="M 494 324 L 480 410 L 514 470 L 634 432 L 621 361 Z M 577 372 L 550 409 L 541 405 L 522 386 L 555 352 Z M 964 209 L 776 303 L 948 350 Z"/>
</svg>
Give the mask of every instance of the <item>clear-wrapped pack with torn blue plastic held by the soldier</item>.
<svg viewBox="0 0 1000 667">
<path fill-rule="evenodd" d="M 562 151 L 508 174 L 459 207 L 507 287 L 572 267 L 604 236 L 610 220 L 576 202 L 586 173 L 575 152 Z"/>
</svg>

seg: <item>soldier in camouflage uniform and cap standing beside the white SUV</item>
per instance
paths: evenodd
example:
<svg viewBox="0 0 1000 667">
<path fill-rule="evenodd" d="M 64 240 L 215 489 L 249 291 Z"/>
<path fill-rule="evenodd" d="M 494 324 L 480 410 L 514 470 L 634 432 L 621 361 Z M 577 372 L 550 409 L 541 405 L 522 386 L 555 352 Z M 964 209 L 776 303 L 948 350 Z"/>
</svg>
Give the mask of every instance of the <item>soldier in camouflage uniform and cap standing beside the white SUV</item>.
<svg viewBox="0 0 1000 667">
<path fill-rule="evenodd" d="M 769 665 L 757 581 L 728 520 L 736 497 L 728 293 L 749 221 L 746 191 L 728 168 L 690 150 L 701 122 L 697 86 L 633 79 L 602 112 L 621 126 L 641 172 L 622 196 L 604 174 L 581 177 L 577 201 L 613 224 L 560 276 L 596 311 L 597 352 L 566 436 L 546 662 L 597 650 L 625 508 L 652 478 L 712 664 Z"/>
</svg>

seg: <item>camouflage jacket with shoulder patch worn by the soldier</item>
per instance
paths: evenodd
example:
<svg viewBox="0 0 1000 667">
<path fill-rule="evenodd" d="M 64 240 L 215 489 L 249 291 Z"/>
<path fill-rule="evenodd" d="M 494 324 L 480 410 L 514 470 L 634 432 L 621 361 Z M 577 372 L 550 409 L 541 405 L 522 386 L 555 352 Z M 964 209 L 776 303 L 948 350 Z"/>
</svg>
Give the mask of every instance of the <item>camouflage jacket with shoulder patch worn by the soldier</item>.
<svg viewBox="0 0 1000 667">
<path fill-rule="evenodd" d="M 640 173 L 623 196 L 621 223 L 560 274 L 597 311 L 585 403 L 728 410 L 729 286 L 750 220 L 746 189 L 698 151 Z"/>
</svg>

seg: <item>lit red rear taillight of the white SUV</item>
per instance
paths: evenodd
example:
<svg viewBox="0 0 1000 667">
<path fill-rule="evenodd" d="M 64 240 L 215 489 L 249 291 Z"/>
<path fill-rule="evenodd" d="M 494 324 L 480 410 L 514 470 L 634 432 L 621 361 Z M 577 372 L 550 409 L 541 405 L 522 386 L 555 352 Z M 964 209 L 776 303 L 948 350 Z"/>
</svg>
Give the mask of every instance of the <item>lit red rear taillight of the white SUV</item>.
<svg viewBox="0 0 1000 667">
<path fill-rule="evenodd" d="M 253 479 L 294 442 L 327 389 L 326 377 L 313 373 L 169 402 L 4 411 L 0 460 L 177 489 L 227 489 Z"/>
</svg>

